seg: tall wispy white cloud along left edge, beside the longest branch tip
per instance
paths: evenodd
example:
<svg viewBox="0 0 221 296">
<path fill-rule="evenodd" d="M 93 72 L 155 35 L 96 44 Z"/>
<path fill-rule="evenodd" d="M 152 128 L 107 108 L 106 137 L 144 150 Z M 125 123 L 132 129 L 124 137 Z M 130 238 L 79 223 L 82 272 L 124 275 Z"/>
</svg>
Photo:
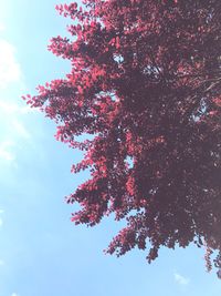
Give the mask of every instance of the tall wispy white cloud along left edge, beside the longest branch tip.
<svg viewBox="0 0 221 296">
<path fill-rule="evenodd" d="M 0 38 L 0 161 L 7 165 L 15 164 L 23 141 L 31 137 L 25 124 L 30 109 L 22 104 L 19 95 L 24 82 L 15 53 L 17 48 Z"/>
</svg>

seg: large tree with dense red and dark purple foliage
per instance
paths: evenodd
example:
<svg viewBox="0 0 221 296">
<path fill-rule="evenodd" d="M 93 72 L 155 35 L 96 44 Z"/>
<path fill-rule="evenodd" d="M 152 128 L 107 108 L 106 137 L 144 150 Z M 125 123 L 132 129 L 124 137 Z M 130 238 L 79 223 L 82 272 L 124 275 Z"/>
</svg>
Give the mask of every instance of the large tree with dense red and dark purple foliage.
<svg viewBox="0 0 221 296">
<path fill-rule="evenodd" d="M 206 246 L 208 269 L 213 252 L 220 268 L 220 0 L 56 9 L 71 17 L 71 34 L 49 49 L 72 71 L 25 99 L 56 121 L 59 140 L 84 151 L 72 171 L 91 178 L 67 197 L 82 207 L 72 221 L 94 226 L 114 213 L 127 225 L 108 253 L 148 247 L 150 263 L 160 246 L 194 243 Z"/>
</svg>

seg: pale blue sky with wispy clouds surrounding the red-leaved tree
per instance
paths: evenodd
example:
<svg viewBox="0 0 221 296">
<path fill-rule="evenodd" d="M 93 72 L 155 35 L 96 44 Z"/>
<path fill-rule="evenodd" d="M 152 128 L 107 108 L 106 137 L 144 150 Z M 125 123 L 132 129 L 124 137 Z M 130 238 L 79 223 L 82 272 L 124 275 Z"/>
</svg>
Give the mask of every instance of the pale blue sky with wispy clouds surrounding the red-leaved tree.
<svg viewBox="0 0 221 296">
<path fill-rule="evenodd" d="M 103 249 L 122 225 L 75 227 L 64 196 L 85 174 L 70 173 L 81 154 L 54 139 L 55 126 L 20 99 L 69 72 L 48 52 L 66 34 L 57 0 L 0 0 L 0 296 L 219 296 L 203 251 L 161 249 L 116 258 Z"/>
</svg>

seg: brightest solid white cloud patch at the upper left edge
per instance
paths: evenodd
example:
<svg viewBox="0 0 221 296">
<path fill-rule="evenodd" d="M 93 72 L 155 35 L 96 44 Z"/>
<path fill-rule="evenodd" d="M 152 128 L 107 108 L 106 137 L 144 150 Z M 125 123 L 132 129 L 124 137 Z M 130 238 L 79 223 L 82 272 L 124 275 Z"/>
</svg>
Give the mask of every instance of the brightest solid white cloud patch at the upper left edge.
<svg viewBox="0 0 221 296">
<path fill-rule="evenodd" d="M 14 54 L 15 48 L 7 40 L 0 39 L 0 88 L 21 80 L 21 68 Z"/>
</svg>

